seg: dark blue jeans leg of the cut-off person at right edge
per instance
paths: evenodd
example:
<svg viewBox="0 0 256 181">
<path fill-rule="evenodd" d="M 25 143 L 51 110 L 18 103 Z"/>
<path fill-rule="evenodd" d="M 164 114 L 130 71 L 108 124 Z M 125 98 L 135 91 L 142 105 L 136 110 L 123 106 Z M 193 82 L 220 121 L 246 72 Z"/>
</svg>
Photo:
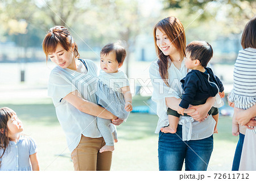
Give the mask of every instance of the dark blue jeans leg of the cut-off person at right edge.
<svg viewBox="0 0 256 181">
<path fill-rule="evenodd" d="M 239 133 L 239 140 L 237 142 L 237 148 L 233 159 L 232 171 L 238 171 L 239 169 L 243 140 L 245 140 L 245 134 Z"/>
</svg>

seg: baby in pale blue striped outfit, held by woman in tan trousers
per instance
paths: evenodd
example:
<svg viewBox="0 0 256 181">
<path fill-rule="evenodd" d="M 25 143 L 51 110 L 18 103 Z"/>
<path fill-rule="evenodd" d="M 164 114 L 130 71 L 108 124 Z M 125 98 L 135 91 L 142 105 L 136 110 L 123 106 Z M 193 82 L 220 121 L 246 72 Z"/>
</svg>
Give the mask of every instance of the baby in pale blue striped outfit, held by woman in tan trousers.
<svg viewBox="0 0 256 181">
<path fill-rule="evenodd" d="M 119 119 L 126 120 L 129 112 L 133 110 L 131 106 L 131 93 L 127 75 L 119 71 L 126 57 L 126 50 L 119 43 L 110 43 L 102 48 L 101 70 L 97 83 L 97 102 Z M 114 139 L 109 128 L 111 120 L 97 118 L 97 126 L 100 130 L 106 145 L 100 149 L 103 151 L 113 151 L 114 142 L 117 142 L 117 132 L 114 131 Z"/>
</svg>

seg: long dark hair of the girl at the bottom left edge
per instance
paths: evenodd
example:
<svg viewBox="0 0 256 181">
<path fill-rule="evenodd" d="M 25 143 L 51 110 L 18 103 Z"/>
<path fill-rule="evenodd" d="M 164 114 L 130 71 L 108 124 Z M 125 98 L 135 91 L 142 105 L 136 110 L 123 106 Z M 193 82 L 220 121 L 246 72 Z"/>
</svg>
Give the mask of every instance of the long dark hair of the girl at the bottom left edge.
<svg viewBox="0 0 256 181">
<path fill-rule="evenodd" d="M 2 158 L 7 146 L 9 145 L 9 129 L 7 127 L 7 121 L 13 115 L 16 115 L 16 112 L 11 110 L 9 107 L 0 108 L 0 149 L 3 149 L 3 153 L 0 155 L 0 158 Z"/>
</svg>

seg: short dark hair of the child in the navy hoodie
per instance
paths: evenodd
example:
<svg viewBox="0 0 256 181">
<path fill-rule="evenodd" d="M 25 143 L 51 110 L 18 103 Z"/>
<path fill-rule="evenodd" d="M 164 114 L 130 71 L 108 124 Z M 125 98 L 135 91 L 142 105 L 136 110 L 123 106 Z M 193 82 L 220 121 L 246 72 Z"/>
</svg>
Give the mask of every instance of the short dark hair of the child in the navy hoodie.
<svg viewBox="0 0 256 181">
<path fill-rule="evenodd" d="M 191 53 L 191 60 L 199 60 L 204 68 L 213 56 L 212 46 L 206 41 L 192 41 L 187 45 L 186 52 Z"/>
</svg>

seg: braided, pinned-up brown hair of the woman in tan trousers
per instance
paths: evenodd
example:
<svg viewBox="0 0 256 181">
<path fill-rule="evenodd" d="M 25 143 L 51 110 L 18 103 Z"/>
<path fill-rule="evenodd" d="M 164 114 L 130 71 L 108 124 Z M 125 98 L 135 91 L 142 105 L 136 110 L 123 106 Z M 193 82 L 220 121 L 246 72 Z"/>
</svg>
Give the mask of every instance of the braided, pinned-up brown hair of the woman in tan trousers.
<svg viewBox="0 0 256 181">
<path fill-rule="evenodd" d="M 48 60 L 48 54 L 53 53 L 56 50 L 57 44 L 60 44 L 65 50 L 69 51 L 72 48 L 72 44 L 75 44 L 74 56 L 79 57 L 77 50 L 77 44 L 73 41 L 73 37 L 70 35 L 67 28 L 63 26 L 52 27 L 43 40 L 43 50 L 46 54 L 46 60 Z"/>
</svg>

